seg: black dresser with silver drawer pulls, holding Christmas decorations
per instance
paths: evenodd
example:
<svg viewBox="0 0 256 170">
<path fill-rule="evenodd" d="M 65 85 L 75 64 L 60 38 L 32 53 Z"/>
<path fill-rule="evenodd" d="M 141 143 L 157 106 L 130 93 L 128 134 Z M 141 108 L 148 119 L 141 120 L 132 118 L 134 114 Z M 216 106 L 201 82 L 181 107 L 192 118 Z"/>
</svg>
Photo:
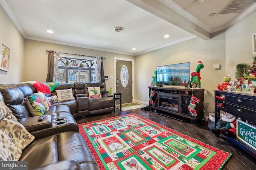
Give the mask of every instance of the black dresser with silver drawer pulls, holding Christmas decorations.
<svg viewBox="0 0 256 170">
<path fill-rule="evenodd" d="M 256 123 L 256 94 L 246 94 L 238 92 L 227 92 L 214 90 L 215 96 L 215 127 L 216 123 L 220 119 L 220 110 L 236 115 L 243 120 Z M 217 106 L 218 99 L 216 96 L 225 95 L 224 105 Z M 222 133 L 226 136 L 224 133 Z M 244 144 L 243 141 L 226 136 L 230 141 L 241 147 L 243 150 L 256 158 L 256 150 Z"/>
</svg>

